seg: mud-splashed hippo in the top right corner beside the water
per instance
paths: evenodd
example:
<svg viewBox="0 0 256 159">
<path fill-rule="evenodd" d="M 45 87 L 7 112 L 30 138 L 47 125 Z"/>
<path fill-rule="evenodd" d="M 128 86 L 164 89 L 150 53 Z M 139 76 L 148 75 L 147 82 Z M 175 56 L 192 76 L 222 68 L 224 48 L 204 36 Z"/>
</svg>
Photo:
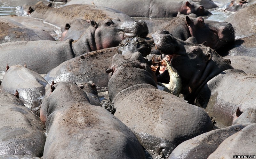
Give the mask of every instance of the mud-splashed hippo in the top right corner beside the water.
<svg viewBox="0 0 256 159">
<path fill-rule="evenodd" d="M 225 11 L 239 11 L 255 2 L 255 0 L 231 0 Z"/>
</svg>

